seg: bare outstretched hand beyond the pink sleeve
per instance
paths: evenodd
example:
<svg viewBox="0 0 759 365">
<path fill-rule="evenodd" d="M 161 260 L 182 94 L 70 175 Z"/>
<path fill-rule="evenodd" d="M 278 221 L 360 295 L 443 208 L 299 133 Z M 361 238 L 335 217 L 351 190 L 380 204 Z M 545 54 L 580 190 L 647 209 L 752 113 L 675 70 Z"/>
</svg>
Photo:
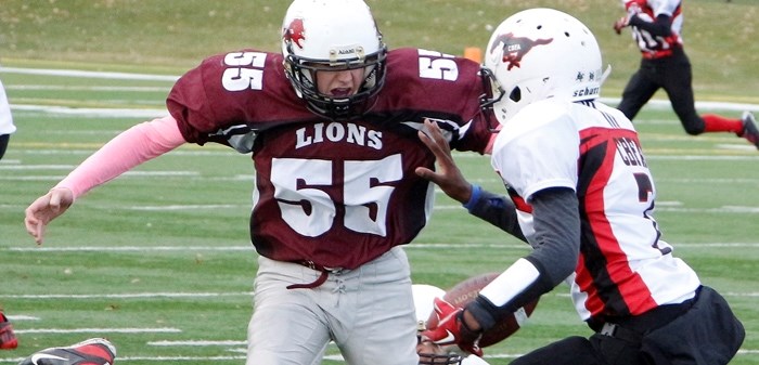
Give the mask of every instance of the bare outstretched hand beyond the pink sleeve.
<svg viewBox="0 0 759 365">
<path fill-rule="evenodd" d="M 37 244 L 44 240 L 48 223 L 63 214 L 74 204 L 74 193 L 65 187 L 56 187 L 37 198 L 26 208 L 24 224 Z"/>
</svg>

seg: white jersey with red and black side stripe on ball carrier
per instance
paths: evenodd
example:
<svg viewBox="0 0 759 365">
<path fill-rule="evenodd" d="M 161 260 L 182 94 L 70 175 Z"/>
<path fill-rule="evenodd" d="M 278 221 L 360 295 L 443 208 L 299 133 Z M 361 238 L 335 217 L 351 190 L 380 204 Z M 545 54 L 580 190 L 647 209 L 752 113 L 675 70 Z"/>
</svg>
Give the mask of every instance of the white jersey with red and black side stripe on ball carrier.
<svg viewBox="0 0 759 365">
<path fill-rule="evenodd" d="M 656 187 L 638 133 L 619 110 L 594 102 L 530 104 L 504 125 L 492 165 L 531 243 L 525 201 L 551 187 L 577 193 L 580 258 L 567 281 L 583 320 L 638 315 L 694 296 L 699 279 L 660 239 Z"/>
</svg>

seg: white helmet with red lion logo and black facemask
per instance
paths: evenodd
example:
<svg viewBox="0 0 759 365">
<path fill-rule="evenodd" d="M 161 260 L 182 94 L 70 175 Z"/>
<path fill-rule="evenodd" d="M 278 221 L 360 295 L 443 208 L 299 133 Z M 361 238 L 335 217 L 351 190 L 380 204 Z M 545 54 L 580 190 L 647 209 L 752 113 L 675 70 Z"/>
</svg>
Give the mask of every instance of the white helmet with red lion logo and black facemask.
<svg viewBox="0 0 759 365">
<path fill-rule="evenodd" d="M 311 112 L 334 120 L 361 116 L 385 82 L 387 47 L 362 0 L 295 0 L 282 23 L 285 75 Z M 319 92 L 316 73 L 364 69 L 350 96 Z"/>
</svg>

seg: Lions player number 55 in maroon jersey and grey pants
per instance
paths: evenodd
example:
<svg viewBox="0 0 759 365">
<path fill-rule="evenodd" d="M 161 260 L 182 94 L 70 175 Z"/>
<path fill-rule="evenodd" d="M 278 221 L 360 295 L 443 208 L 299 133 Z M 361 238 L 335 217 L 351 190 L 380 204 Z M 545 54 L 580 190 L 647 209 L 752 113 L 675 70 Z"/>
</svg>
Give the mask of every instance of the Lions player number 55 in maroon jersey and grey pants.
<svg viewBox="0 0 759 365">
<path fill-rule="evenodd" d="M 494 135 L 478 63 L 388 51 L 361 0 L 295 0 L 282 52 L 240 50 L 184 74 L 169 115 L 124 131 L 26 210 L 42 243 L 89 190 L 184 143 L 252 154 L 250 237 L 258 252 L 247 364 L 311 364 L 334 340 L 349 364 L 417 363 L 409 262 L 429 219 L 435 156 L 425 120 L 453 148 Z"/>
</svg>

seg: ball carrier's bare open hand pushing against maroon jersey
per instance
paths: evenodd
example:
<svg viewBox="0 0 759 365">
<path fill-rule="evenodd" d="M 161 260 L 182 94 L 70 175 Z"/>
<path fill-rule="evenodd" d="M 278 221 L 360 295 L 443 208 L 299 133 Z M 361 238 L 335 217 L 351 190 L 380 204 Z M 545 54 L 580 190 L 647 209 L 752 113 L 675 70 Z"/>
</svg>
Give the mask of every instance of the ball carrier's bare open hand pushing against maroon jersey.
<svg viewBox="0 0 759 365">
<path fill-rule="evenodd" d="M 416 174 L 440 186 L 440 190 L 451 198 L 462 204 L 469 201 L 472 184 L 464 179 L 461 170 L 455 166 L 451 148 L 442 135 L 440 127 L 428 119 L 424 121 L 424 127 L 425 131 L 420 131 L 419 138 L 435 155 L 438 170 L 433 171 L 426 167 L 417 167 Z"/>
</svg>

